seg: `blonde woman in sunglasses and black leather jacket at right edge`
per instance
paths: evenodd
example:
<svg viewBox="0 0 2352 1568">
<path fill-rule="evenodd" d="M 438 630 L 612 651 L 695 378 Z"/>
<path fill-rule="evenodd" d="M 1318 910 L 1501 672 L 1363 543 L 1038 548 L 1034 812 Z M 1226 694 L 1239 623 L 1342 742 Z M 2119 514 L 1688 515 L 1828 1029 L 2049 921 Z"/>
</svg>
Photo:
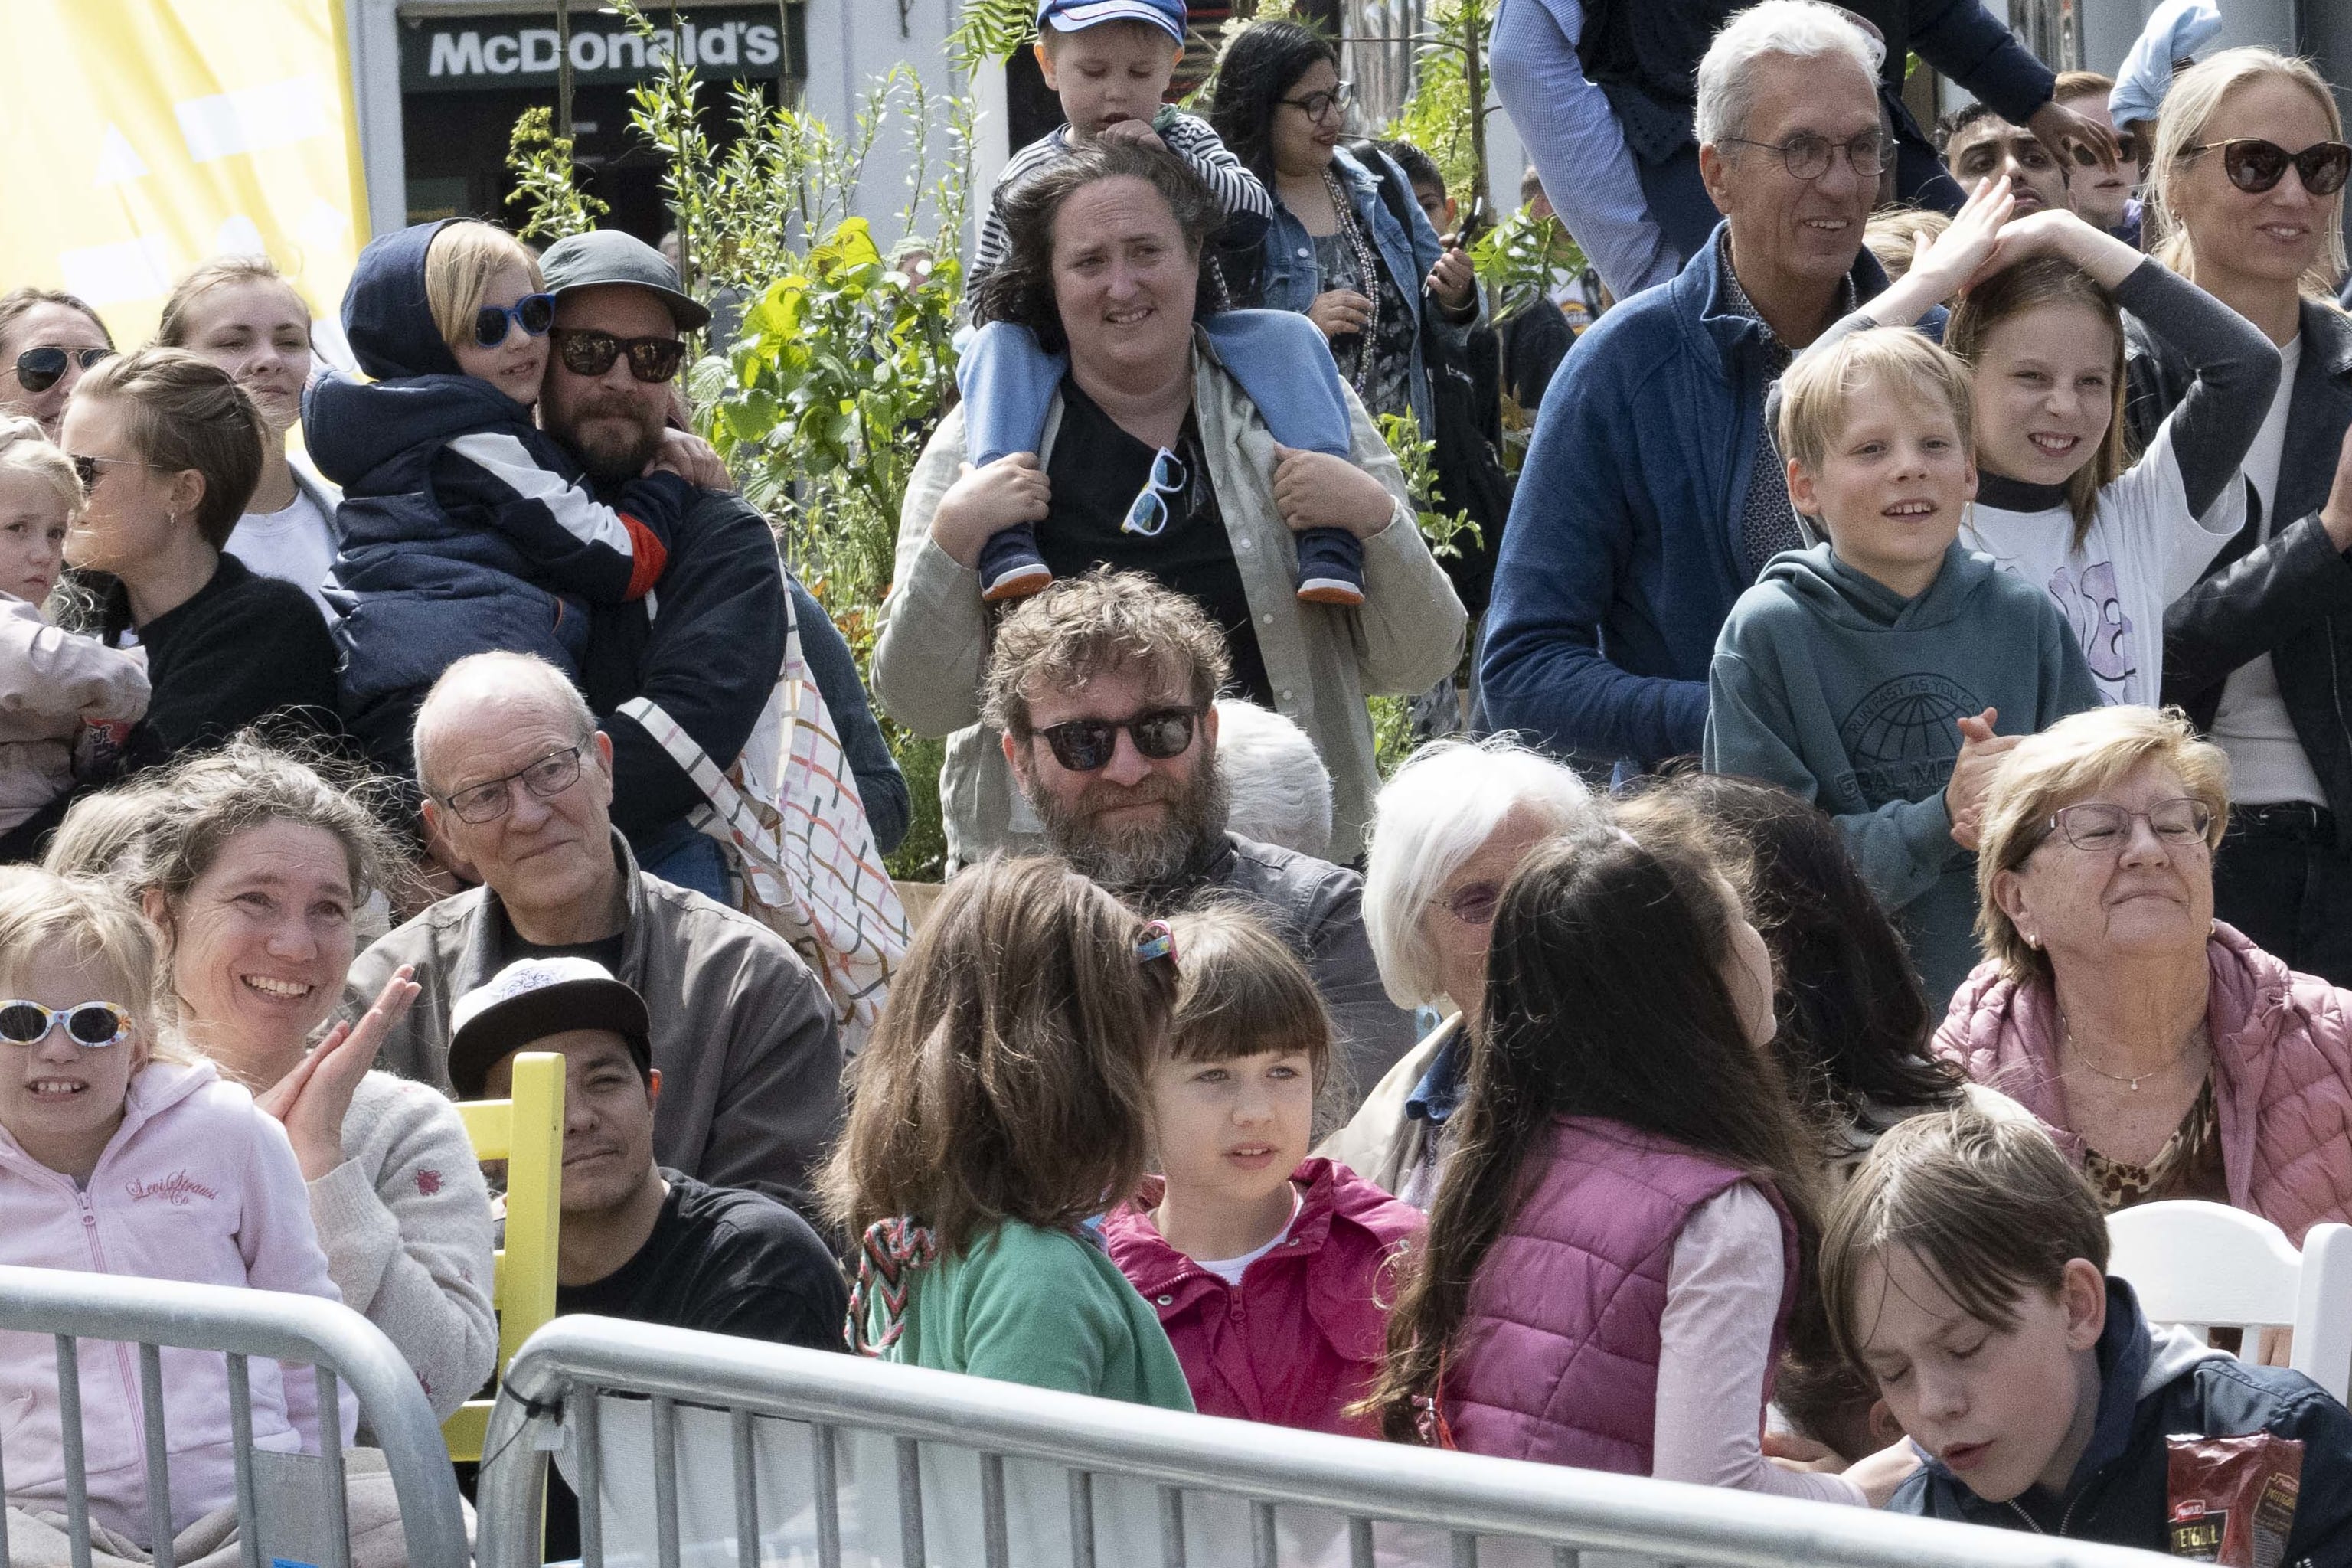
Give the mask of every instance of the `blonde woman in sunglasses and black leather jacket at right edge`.
<svg viewBox="0 0 2352 1568">
<path fill-rule="evenodd" d="M 2164 616 L 2164 701 L 2230 755 L 2220 917 L 2352 985 L 2352 317 L 2333 301 L 2352 146 L 2307 61 L 2223 49 L 2173 80 L 2152 158 L 2157 259 L 2279 348 L 2246 527 Z M 2145 322 L 2129 331 L 2145 437 L 2194 376 Z"/>
</svg>

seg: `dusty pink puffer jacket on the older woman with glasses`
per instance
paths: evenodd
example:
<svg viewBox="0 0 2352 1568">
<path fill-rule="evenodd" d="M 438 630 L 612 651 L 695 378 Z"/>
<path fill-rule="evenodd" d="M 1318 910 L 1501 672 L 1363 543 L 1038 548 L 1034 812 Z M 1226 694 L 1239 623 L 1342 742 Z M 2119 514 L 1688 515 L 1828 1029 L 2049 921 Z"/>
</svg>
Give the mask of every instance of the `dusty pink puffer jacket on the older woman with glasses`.
<svg viewBox="0 0 2352 1568">
<path fill-rule="evenodd" d="M 2352 992 L 2293 973 L 2220 922 L 2206 961 L 2230 1204 L 2300 1246 L 2312 1225 L 2352 1220 Z M 2018 985 L 1978 964 L 1952 997 L 1936 1051 L 2030 1110 L 2079 1164 L 2084 1145 L 2058 1081 L 2060 1032 L 2049 985 Z"/>
</svg>

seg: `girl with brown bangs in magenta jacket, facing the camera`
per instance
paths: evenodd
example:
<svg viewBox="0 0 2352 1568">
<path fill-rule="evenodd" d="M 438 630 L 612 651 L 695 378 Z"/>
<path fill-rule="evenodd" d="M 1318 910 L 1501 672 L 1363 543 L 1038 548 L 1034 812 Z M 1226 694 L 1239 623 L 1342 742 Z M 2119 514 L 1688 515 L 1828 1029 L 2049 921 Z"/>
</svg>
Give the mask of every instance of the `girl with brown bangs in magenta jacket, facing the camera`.
<svg viewBox="0 0 2352 1568">
<path fill-rule="evenodd" d="M 1378 1436 L 1343 1410 L 1381 1375 L 1395 1265 L 1421 1211 L 1308 1159 L 1331 1018 L 1298 954 L 1244 910 L 1169 929 L 1176 1013 L 1152 1070 L 1162 1173 L 1103 1220 L 1103 1241 L 1160 1307 L 1204 1415 Z"/>
</svg>

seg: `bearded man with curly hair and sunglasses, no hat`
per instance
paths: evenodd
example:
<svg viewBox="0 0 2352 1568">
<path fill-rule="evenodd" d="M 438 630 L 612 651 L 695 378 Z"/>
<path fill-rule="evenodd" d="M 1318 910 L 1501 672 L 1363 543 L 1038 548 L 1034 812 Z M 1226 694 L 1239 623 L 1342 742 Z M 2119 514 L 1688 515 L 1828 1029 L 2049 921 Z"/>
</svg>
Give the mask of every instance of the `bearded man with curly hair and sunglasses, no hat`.
<svg viewBox="0 0 2352 1568">
<path fill-rule="evenodd" d="M 1256 907 L 1331 1009 L 1348 1114 L 1414 1046 L 1364 936 L 1364 879 L 1225 825 L 1216 705 L 1230 661 L 1216 623 L 1141 571 L 1058 578 L 997 625 L 981 684 L 1014 783 L 1047 846 L 1145 914 L 1216 898 Z"/>
</svg>

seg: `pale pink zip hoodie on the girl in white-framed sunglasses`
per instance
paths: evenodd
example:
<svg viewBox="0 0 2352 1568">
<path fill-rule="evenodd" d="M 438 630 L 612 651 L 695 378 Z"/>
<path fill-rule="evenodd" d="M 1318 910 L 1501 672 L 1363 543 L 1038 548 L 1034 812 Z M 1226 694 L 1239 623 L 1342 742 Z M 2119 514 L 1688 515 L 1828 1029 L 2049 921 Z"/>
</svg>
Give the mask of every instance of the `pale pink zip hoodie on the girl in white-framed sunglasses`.
<svg viewBox="0 0 2352 1568">
<path fill-rule="evenodd" d="M 9 1265 L 341 1300 L 285 1128 L 212 1063 L 148 1063 L 85 1190 L 0 1128 L 0 1262 Z M 158 1295 L 167 1286 L 158 1284 Z M 80 1368 L 89 1516 L 153 1547 L 139 1352 L 82 1340 Z M 254 1448 L 318 1450 L 318 1382 L 308 1368 L 252 1361 L 249 1387 Z M 165 1349 L 162 1403 L 179 1533 L 238 1497 L 226 1356 Z M 339 1415 L 350 1443 L 358 1406 L 348 1392 Z M 0 1333 L 0 1453 L 9 1502 L 64 1512 L 56 1345 L 47 1335 Z"/>
</svg>

